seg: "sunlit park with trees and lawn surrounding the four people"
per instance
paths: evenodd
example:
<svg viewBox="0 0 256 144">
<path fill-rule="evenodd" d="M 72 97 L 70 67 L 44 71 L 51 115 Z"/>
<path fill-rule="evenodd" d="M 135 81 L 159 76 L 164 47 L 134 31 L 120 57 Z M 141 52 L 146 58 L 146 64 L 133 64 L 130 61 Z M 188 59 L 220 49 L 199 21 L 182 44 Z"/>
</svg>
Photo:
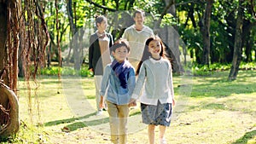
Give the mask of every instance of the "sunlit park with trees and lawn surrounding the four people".
<svg viewBox="0 0 256 144">
<path fill-rule="evenodd" d="M 68 96 L 81 93 L 95 105 L 87 70 L 95 15 L 108 17 L 116 40 L 133 23 L 134 9 L 146 12 L 145 25 L 160 35 L 172 61 L 177 107 L 167 140 L 255 143 L 253 0 L 0 0 L 3 143 L 110 143 L 99 130 L 108 127 L 108 114 L 84 114 L 76 107 L 83 101 L 73 104 Z M 131 112 L 139 115 L 138 108 Z M 147 143 L 146 130 L 134 131 L 129 141 Z"/>
</svg>

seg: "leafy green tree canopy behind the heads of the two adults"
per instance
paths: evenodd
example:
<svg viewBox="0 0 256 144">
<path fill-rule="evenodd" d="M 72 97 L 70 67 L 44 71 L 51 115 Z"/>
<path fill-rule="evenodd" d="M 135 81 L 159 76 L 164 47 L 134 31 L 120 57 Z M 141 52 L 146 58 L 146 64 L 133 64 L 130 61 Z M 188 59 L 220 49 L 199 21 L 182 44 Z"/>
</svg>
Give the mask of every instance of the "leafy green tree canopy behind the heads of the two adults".
<svg viewBox="0 0 256 144">
<path fill-rule="evenodd" d="M 172 2 L 172 1 L 170 1 Z M 56 28 L 55 28 L 55 5 L 53 1 L 42 4 L 44 8 L 45 20 L 51 35 L 51 43 L 56 43 Z M 189 49 L 189 55 L 198 64 L 205 64 L 207 60 L 203 56 L 203 35 L 201 35 L 201 26 L 203 25 L 204 11 L 207 3 L 201 0 L 194 1 L 175 1 L 175 15 L 170 10 L 164 14 L 168 1 L 60 1 L 57 6 L 59 9 L 59 30 L 61 33 L 60 42 L 61 50 L 69 47 L 68 42 L 74 33 L 80 28 L 89 30 L 90 35 L 95 30 L 94 16 L 96 14 L 106 14 L 109 19 L 109 32 L 113 33 L 116 39 L 121 37 L 125 27 L 131 25 L 131 12 L 133 9 L 143 9 L 148 19 L 146 25 L 154 28 L 155 21 L 161 20 L 161 26 L 174 26 L 182 37 L 183 42 Z M 245 1 L 241 4 L 244 10 L 242 17 L 242 60 L 255 60 L 255 7 L 253 1 Z M 212 2 L 212 10 L 209 13 L 209 55 L 210 63 L 230 63 L 233 59 L 235 35 L 236 35 L 236 20 L 237 9 L 239 8 L 238 1 L 214 1 Z M 113 14 L 127 12 L 125 20 L 119 20 L 118 26 L 113 19 Z M 130 17 L 127 17 L 130 16 Z M 124 17 L 124 14 L 119 15 L 119 19 Z M 208 16 L 207 16 L 208 17 Z M 73 21 L 73 24 L 71 23 Z M 83 34 L 83 33 L 82 33 Z M 86 45 L 87 44 L 87 45 Z M 55 44 L 54 44 L 55 45 Z M 88 43 L 85 42 L 85 46 Z M 52 49 L 54 51 L 54 49 Z M 56 52 L 57 50 L 55 50 Z M 56 53 L 56 56 L 57 53 Z M 71 56 L 71 55 L 70 55 Z M 83 55 L 84 56 L 84 55 Z M 71 56 L 72 57 L 72 56 Z M 69 59 L 73 59 L 68 57 Z"/>
</svg>

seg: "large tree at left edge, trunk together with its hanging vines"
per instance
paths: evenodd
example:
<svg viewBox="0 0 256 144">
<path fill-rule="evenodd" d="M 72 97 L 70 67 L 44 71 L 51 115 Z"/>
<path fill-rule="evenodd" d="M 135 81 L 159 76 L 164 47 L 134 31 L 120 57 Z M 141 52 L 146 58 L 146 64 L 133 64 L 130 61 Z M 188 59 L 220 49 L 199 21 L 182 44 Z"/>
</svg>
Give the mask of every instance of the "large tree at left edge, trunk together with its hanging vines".
<svg viewBox="0 0 256 144">
<path fill-rule="evenodd" d="M 18 60 L 22 61 L 28 89 L 31 76 L 36 77 L 44 61 L 48 31 L 41 5 L 37 0 L 26 0 L 21 10 L 20 0 L 0 0 L 0 138 L 14 135 L 20 126 L 15 94 Z M 28 97 L 31 99 L 29 92 Z"/>
</svg>

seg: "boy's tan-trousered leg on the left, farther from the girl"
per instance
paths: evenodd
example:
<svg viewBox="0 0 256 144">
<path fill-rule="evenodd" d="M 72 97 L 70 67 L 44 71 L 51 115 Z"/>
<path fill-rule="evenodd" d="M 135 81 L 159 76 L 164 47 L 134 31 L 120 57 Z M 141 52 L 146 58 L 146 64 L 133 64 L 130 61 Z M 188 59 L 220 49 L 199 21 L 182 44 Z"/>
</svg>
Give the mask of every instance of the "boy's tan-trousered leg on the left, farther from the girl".
<svg viewBox="0 0 256 144">
<path fill-rule="evenodd" d="M 109 114 L 109 124 L 110 124 L 110 135 L 111 141 L 114 144 L 119 144 L 119 119 L 118 119 L 118 109 L 117 106 L 109 101 L 108 105 L 108 114 Z"/>
</svg>

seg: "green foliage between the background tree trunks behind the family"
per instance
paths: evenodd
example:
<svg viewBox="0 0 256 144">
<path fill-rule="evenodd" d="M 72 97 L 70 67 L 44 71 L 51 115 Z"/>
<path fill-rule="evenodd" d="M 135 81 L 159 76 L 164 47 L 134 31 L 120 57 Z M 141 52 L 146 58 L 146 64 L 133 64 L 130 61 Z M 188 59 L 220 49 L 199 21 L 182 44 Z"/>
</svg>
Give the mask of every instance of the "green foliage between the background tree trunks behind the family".
<svg viewBox="0 0 256 144">
<path fill-rule="evenodd" d="M 93 4 L 96 3 L 96 4 Z M 86 28 L 86 34 L 84 37 L 89 37 L 91 32 L 95 31 L 94 16 L 96 14 L 106 14 L 109 19 L 108 32 L 113 33 L 113 37 L 119 36 L 124 25 L 124 21 L 116 24 L 116 20 L 113 19 L 113 11 L 122 12 L 130 11 L 134 9 L 143 9 L 147 14 L 145 25 L 154 27 L 154 21 L 160 18 L 160 14 L 166 7 L 165 1 L 152 1 L 152 0 L 141 0 L 141 1 L 102 1 L 95 0 L 93 3 L 87 1 L 73 0 L 73 16 L 77 28 Z M 193 59 L 197 63 L 201 63 L 202 57 L 202 37 L 200 32 L 200 20 L 203 17 L 205 10 L 205 1 L 194 2 L 194 1 L 182 1 L 177 0 L 176 2 L 176 17 L 172 14 L 167 13 L 161 22 L 161 26 L 176 26 L 177 31 L 180 34 L 183 42 L 186 43 L 190 55 L 193 55 Z M 234 49 L 234 36 L 236 27 L 236 9 L 239 1 L 214 1 L 212 5 L 211 15 L 211 51 L 210 57 L 212 63 L 230 63 L 232 60 L 233 49 Z M 58 4 L 59 9 L 59 20 L 60 20 L 60 33 L 61 33 L 61 50 L 64 51 L 68 48 L 68 41 L 71 38 L 71 32 L 67 16 L 67 2 L 60 1 Z M 244 20 L 247 22 L 255 22 L 252 14 L 252 3 L 246 1 L 243 3 L 244 6 Z M 99 6 L 102 6 L 100 8 Z M 108 9 L 104 9 L 108 8 Z M 55 27 L 55 3 L 49 1 L 45 3 L 44 17 L 46 20 L 47 27 L 52 36 L 52 40 L 56 43 L 56 27 Z M 127 19 L 125 19 L 127 20 Z M 131 20 L 130 20 L 131 21 Z M 250 39 L 253 42 L 256 41 L 255 35 L 256 29 L 253 26 Z M 88 41 L 86 41 L 88 43 Z M 84 45 L 88 47 L 88 44 Z M 255 44 L 251 45 L 251 51 L 255 50 Z M 55 50 L 54 50 L 55 49 Z M 246 48 L 244 48 L 246 49 Z M 55 45 L 51 49 L 51 54 L 57 55 Z M 57 57 L 57 56 L 55 56 Z M 255 57 L 255 56 L 254 56 Z M 254 58 L 255 59 L 255 58 Z"/>
</svg>

